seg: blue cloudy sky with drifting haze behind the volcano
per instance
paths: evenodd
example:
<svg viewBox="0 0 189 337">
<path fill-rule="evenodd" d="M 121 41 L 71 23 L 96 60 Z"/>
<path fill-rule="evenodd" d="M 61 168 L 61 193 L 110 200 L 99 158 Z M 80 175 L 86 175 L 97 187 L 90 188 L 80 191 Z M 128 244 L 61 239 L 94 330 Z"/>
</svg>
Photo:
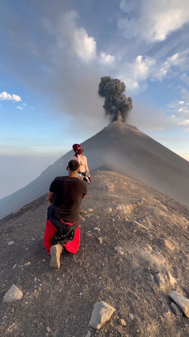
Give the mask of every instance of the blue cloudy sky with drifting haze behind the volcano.
<svg viewBox="0 0 189 337">
<path fill-rule="evenodd" d="M 127 122 L 189 160 L 188 0 L 1 3 L 0 198 L 104 126 L 102 76 Z"/>
</svg>

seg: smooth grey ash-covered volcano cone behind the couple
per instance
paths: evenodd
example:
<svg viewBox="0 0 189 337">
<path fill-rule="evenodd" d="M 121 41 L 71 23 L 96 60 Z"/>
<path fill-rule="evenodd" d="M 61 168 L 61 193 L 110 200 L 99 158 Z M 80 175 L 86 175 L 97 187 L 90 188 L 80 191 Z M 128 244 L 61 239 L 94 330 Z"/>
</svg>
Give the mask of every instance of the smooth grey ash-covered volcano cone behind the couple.
<svg viewBox="0 0 189 337">
<path fill-rule="evenodd" d="M 114 122 L 82 146 L 90 171 L 105 169 L 125 174 L 189 207 L 189 162 L 135 126 Z M 73 150 L 26 187 L 1 199 L 0 218 L 47 193 L 54 177 L 67 175 L 66 165 L 72 155 Z"/>
</svg>

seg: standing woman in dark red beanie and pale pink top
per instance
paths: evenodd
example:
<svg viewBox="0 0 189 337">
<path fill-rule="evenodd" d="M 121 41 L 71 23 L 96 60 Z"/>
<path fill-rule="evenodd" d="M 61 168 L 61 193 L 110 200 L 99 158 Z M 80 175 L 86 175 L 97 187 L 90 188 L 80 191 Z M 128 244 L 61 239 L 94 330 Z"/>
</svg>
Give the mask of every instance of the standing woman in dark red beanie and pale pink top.
<svg viewBox="0 0 189 337">
<path fill-rule="evenodd" d="M 82 174 L 82 173 L 88 172 L 88 174 L 89 174 L 89 169 L 88 169 L 88 166 L 87 166 L 87 157 L 83 155 L 83 149 L 82 149 L 81 145 L 74 144 L 73 150 L 75 152 L 75 155 L 72 156 L 72 159 L 78 160 L 79 163 L 80 163 L 79 173 Z M 88 184 L 90 184 L 91 183 L 90 175 L 87 177 L 87 179 L 84 177 L 84 180 L 88 181 Z M 80 207 L 80 213 L 86 214 L 87 211 L 84 211 L 82 209 L 82 207 Z M 79 216 L 79 219 L 82 220 L 82 221 L 85 221 L 85 219 L 81 215 Z"/>
</svg>

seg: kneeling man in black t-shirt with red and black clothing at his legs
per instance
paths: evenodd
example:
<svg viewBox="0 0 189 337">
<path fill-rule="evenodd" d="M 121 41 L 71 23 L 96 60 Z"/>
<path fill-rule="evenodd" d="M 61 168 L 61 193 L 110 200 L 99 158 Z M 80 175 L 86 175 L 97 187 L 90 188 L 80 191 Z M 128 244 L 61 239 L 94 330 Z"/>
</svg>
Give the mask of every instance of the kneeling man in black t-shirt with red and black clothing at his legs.
<svg viewBox="0 0 189 337">
<path fill-rule="evenodd" d="M 68 162 L 68 176 L 56 177 L 49 188 L 47 222 L 44 246 L 51 254 L 50 266 L 60 267 L 63 249 L 75 254 L 80 244 L 79 214 L 82 198 L 87 196 L 87 183 L 77 178 L 80 164 L 77 160 Z"/>
</svg>

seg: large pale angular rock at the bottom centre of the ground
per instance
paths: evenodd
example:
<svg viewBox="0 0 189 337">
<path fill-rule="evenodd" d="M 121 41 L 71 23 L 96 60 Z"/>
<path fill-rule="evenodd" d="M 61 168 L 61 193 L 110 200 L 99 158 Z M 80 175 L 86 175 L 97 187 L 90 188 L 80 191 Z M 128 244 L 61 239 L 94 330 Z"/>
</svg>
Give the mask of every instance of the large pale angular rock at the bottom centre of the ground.
<svg viewBox="0 0 189 337">
<path fill-rule="evenodd" d="M 115 309 L 104 301 L 96 302 L 93 307 L 89 326 L 94 329 L 100 329 L 102 324 L 110 319 L 114 311 Z"/>
</svg>

